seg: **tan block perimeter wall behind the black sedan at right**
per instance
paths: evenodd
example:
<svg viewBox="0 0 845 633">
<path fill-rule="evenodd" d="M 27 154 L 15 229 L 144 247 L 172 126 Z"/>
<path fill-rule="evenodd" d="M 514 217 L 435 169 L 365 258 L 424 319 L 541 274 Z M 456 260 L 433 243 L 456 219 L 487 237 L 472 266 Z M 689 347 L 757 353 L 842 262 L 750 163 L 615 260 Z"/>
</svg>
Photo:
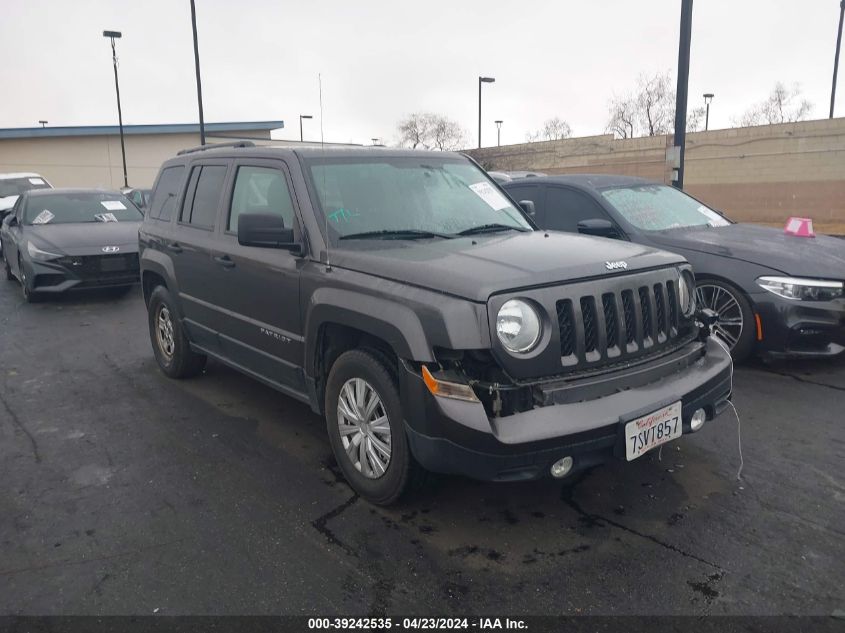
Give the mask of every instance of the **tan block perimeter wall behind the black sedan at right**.
<svg viewBox="0 0 845 633">
<path fill-rule="evenodd" d="M 470 150 L 491 169 L 614 173 L 671 181 L 672 136 L 610 135 Z M 845 118 L 687 135 L 685 189 L 737 220 L 790 215 L 845 227 Z M 845 231 L 843 231 L 845 232 Z"/>
</svg>

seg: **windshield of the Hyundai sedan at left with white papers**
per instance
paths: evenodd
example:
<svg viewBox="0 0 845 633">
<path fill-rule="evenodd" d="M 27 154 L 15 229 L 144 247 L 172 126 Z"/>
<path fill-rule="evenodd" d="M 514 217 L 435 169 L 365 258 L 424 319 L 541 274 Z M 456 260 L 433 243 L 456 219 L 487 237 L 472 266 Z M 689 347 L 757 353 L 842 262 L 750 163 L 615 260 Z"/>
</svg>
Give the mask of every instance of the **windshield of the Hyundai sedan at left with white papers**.
<svg viewBox="0 0 845 633">
<path fill-rule="evenodd" d="M 24 224 L 140 222 L 137 207 L 119 193 L 55 193 L 30 197 Z"/>
</svg>

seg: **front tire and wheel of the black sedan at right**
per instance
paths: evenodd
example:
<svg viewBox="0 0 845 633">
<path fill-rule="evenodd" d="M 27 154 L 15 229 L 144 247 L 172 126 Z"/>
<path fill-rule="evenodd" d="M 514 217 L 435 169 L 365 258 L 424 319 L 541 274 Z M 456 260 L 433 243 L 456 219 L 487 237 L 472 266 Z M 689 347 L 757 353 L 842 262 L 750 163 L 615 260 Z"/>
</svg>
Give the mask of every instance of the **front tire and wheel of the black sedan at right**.
<svg viewBox="0 0 845 633">
<path fill-rule="evenodd" d="M 699 307 L 719 315 L 713 331 L 727 343 L 734 362 L 747 359 L 754 351 L 756 324 L 745 293 L 725 281 L 703 279 L 696 284 L 695 294 Z"/>
</svg>

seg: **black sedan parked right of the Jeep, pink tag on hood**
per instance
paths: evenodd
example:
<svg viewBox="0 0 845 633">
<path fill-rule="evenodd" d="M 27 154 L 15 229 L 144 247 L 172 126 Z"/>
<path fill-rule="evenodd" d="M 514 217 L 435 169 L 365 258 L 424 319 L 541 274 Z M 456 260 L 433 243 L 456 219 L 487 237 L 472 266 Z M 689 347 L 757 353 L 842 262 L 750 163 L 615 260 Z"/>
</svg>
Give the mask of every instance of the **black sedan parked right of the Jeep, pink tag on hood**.
<svg viewBox="0 0 845 633">
<path fill-rule="evenodd" d="M 845 350 L 845 240 L 738 224 L 668 185 L 578 174 L 502 185 L 545 229 L 662 248 L 693 265 L 697 300 L 736 360 Z"/>
</svg>

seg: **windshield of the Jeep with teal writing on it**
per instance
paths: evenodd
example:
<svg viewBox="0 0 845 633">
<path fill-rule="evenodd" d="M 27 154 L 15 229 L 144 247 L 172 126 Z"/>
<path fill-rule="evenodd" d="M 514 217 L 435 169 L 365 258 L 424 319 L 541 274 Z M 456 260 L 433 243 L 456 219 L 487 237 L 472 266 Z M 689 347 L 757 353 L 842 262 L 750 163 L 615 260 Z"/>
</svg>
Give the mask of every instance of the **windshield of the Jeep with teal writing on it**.
<svg viewBox="0 0 845 633">
<path fill-rule="evenodd" d="M 521 210 L 469 161 L 432 155 L 304 162 L 332 242 L 391 232 L 413 239 L 479 227 L 531 230 Z"/>
</svg>

